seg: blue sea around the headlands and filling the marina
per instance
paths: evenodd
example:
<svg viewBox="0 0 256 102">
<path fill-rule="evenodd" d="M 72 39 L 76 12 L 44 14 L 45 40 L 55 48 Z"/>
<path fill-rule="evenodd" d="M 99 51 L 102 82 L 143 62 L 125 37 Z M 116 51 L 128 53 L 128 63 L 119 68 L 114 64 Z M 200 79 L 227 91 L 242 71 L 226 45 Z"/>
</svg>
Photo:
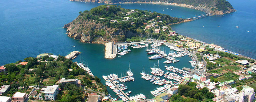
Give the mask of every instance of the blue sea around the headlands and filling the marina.
<svg viewBox="0 0 256 102">
<path fill-rule="evenodd" d="M 228 0 L 237 12 L 224 15 L 209 16 L 191 22 L 172 25 L 172 29 L 181 35 L 195 38 L 206 43 L 214 43 L 227 50 L 256 58 L 256 14 L 255 0 Z M 67 55 L 72 51 L 80 51 L 73 61 L 83 61 L 94 75 L 105 81 L 102 75 L 112 73 L 124 75 L 129 69 L 134 74 L 135 81 L 126 82 L 132 91 L 130 96 L 144 94 L 153 98 L 150 91 L 159 87 L 141 78 L 139 72 L 143 68 L 150 73 L 150 67 L 158 65 L 165 70 L 163 61 L 148 60 L 146 48 L 132 49 L 131 52 L 116 57 L 113 60 L 104 58 L 104 45 L 85 44 L 70 38 L 63 26 L 74 20 L 80 11 L 90 10 L 103 3 L 71 2 L 69 0 L 4 0 L 0 3 L 0 65 L 14 63 L 26 57 L 36 57 L 39 53 Z M 190 8 L 158 5 L 158 4 L 117 4 L 123 8 L 150 10 L 164 13 L 173 17 L 190 18 L 203 15 L 204 12 Z M 168 9 L 167 9 L 168 8 Z M 204 26 L 204 27 L 203 27 Z M 219 26 L 219 27 L 218 27 Z M 236 28 L 238 26 L 239 28 Z M 248 31 L 248 32 L 247 32 Z M 75 46 L 75 47 L 73 47 Z M 161 46 L 166 53 L 171 50 Z M 81 60 L 80 60 L 81 59 Z M 176 68 L 192 68 L 190 57 L 184 56 L 180 62 L 168 64 Z M 109 93 L 117 98 L 110 89 Z"/>
</svg>

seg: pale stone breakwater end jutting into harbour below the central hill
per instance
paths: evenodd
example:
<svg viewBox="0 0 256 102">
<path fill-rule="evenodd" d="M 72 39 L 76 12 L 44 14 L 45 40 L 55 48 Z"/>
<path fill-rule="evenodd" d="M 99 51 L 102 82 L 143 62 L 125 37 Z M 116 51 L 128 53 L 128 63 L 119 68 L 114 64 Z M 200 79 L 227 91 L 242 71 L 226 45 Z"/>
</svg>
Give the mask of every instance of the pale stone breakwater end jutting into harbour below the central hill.
<svg viewBox="0 0 256 102">
<path fill-rule="evenodd" d="M 112 44 L 113 44 L 113 42 L 105 44 L 105 58 L 107 58 L 107 59 L 113 59 L 116 57 L 116 54 L 112 54 L 112 49 L 113 49 Z"/>
</svg>

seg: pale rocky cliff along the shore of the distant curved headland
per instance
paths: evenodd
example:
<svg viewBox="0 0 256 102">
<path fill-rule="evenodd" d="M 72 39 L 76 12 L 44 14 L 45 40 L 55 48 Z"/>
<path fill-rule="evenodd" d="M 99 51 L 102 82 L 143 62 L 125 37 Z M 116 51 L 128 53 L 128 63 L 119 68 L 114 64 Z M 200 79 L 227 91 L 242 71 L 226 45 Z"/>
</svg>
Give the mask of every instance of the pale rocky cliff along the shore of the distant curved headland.
<svg viewBox="0 0 256 102">
<path fill-rule="evenodd" d="M 112 3 L 109 0 L 70 0 L 70 1 L 79 1 L 79 2 L 94 2 L 94 3 L 106 3 L 106 4 L 115 4 Z M 147 2 L 118 2 L 118 3 L 153 3 L 153 4 L 166 4 L 166 5 L 175 5 L 175 6 L 182 6 L 182 7 L 187 7 L 187 8 L 192 8 L 192 9 L 196 9 L 196 10 L 200 10 L 203 11 L 207 14 L 210 13 L 210 15 L 223 15 L 223 14 L 227 14 L 227 13 L 232 13 L 235 12 L 236 10 L 228 8 L 227 11 L 222 11 L 222 10 L 211 10 L 213 7 L 212 6 L 208 6 L 208 5 L 204 5 L 201 4 L 199 6 L 193 6 L 193 5 L 188 5 L 188 4 L 181 4 L 181 3 L 168 3 L 168 2 L 155 2 L 155 1 L 147 1 Z M 211 4 L 214 5 L 214 4 Z M 214 7 L 216 8 L 216 7 Z"/>
</svg>

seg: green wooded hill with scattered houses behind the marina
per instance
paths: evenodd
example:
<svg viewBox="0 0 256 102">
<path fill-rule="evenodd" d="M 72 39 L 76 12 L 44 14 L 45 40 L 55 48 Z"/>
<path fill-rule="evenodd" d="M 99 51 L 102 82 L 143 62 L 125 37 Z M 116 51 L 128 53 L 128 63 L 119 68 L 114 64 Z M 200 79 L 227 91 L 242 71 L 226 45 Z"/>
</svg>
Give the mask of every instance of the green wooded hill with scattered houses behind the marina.
<svg viewBox="0 0 256 102">
<path fill-rule="evenodd" d="M 66 24 L 70 37 L 86 43 L 109 41 L 138 41 L 142 38 L 177 39 L 169 37 L 170 24 L 183 22 L 181 18 L 151 11 L 129 10 L 116 5 L 101 5 L 80 12 Z M 146 28 L 147 26 L 147 28 Z M 155 32 L 155 29 L 158 30 Z"/>
</svg>

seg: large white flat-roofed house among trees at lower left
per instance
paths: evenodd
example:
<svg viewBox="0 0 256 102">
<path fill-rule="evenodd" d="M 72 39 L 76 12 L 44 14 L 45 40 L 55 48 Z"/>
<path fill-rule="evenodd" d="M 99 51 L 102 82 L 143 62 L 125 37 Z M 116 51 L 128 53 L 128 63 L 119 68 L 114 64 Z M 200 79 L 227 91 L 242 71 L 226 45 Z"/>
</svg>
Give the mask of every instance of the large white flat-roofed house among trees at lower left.
<svg viewBox="0 0 256 102">
<path fill-rule="evenodd" d="M 44 93 L 45 100 L 55 100 L 59 93 L 59 85 L 47 86 L 44 91 L 39 93 L 39 100 L 43 100 L 42 93 Z"/>
</svg>

